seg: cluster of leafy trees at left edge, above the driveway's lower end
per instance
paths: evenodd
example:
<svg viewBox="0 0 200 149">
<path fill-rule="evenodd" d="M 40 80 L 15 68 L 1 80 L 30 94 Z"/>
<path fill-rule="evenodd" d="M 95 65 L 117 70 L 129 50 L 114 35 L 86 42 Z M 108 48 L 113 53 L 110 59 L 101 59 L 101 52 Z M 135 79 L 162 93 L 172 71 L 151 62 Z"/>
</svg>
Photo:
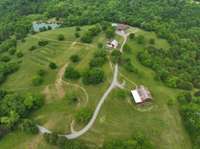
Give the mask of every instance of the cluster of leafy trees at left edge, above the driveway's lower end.
<svg viewBox="0 0 200 149">
<path fill-rule="evenodd" d="M 39 95 L 9 93 L 4 95 L 0 103 L 0 124 L 8 129 L 13 128 L 23 117 L 43 105 L 43 97 Z"/>
</svg>

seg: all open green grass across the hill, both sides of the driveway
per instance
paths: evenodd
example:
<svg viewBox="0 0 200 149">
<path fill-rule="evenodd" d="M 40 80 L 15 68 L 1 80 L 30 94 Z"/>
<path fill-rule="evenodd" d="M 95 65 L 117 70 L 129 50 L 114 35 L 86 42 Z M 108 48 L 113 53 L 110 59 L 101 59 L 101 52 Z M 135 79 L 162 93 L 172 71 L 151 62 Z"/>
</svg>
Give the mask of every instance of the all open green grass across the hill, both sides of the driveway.
<svg viewBox="0 0 200 149">
<path fill-rule="evenodd" d="M 82 28 L 82 32 L 89 26 Z M 81 44 L 74 37 L 75 28 L 62 28 L 53 31 L 38 33 L 26 38 L 26 42 L 19 43 L 18 49 L 22 50 L 24 57 L 22 58 L 21 68 L 18 72 L 11 75 L 2 88 L 17 91 L 43 92 L 48 85 L 52 96 L 46 100 L 46 104 L 38 111 L 31 115 L 39 124 L 59 133 L 70 132 L 70 123 L 74 119 L 74 113 L 83 106 L 88 106 L 92 110 L 95 109 L 100 97 L 103 95 L 109 83 L 112 80 L 112 70 L 109 63 L 103 67 L 106 73 L 106 79 L 103 84 L 97 86 L 84 86 L 81 81 L 70 82 L 83 87 L 88 96 L 89 101 L 85 104 L 85 95 L 76 87 L 65 85 L 65 92 L 74 90 L 81 98 L 80 106 L 68 105 L 64 99 L 58 98 L 55 91 L 55 80 L 59 69 L 66 63 L 70 63 L 69 57 L 78 54 L 81 62 L 75 67 L 81 72 L 88 68 L 88 63 L 97 50 L 99 42 L 105 43 L 105 35 L 100 34 L 96 37 L 92 44 Z M 64 34 L 65 41 L 57 41 L 57 36 Z M 144 35 L 145 39 L 155 38 L 156 47 L 169 48 L 165 40 L 158 39 L 155 33 L 139 30 L 136 35 Z M 121 37 L 116 37 L 122 42 Z M 49 44 L 45 47 L 29 51 L 32 45 L 37 45 L 40 39 L 48 39 Z M 76 44 L 73 44 L 77 42 Z M 150 105 L 144 107 L 137 106 L 133 103 L 131 96 L 126 99 L 118 99 L 113 91 L 98 116 L 92 129 L 83 135 L 80 139 L 88 143 L 101 145 L 103 141 L 112 138 L 128 138 L 138 131 L 148 136 L 158 149 L 190 149 L 191 144 L 186 134 L 177 110 L 176 103 L 168 106 L 169 99 L 175 100 L 178 90 L 165 87 L 161 82 L 154 80 L 154 72 L 137 61 L 137 53 L 143 50 L 146 45 L 138 45 L 134 40 L 129 40 L 131 46 L 132 63 L 139 70 L 138 74 L 128 73 L 120 67 L 120 72 L 129 80 L 136 84 L 147 86 L 153 95 L 153 101 Z M 56 62 L 59 66 L 57 70 L 50 70 L 48 64 L 50 61 Z M 40 87 L 34 87 L 31 84 L 32 78 L 39 69 L 45 69 L 47 74 L 45 82 Z M 123 77 L 120 80 L 124 80 Z M 130 92 L 134 85 L 126 81 L 126 90 Z M 75 129 L 80 129 L 82 125 L 76 124 Z M 22 132 L 15 131 L 7 135 L 0 141 L 0 147 L 3 149 L 54 149 L 45 143 L 41 135 L 26 135 Z"/>
</svg>

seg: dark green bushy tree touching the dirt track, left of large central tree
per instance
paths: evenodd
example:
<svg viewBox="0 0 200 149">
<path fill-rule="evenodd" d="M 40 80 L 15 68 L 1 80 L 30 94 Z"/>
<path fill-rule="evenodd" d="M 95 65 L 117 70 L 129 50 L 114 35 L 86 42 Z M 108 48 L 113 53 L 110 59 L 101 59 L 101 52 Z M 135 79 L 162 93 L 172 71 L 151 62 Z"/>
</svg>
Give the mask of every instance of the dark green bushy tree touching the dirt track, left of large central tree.
<svg viewBox="0 0 200 149">
<path fill-rule="evenodd" d="M 66 68 L 64 76 L 66 79 L 72 80 L 77 80 L 81 77 L 80 73 L 77 70 L 75 70 L 72 66 Z"/>
</svg>

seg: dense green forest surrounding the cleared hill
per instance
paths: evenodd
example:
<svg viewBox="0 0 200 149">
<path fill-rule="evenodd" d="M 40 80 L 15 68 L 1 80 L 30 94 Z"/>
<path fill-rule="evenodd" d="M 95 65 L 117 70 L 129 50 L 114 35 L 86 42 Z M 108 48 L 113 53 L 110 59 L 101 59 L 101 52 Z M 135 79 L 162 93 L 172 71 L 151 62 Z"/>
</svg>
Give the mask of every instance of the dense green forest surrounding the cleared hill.
<svg viewBox="0 0 200 149">
<path fill-rule="evenodd" d="M 87 25 L 102 21 L 126 23 L 155 31 L 161 38 L 170 43 L 169 49 L 146 47 L 138 54 L 138 60 L 156 72 L 156 79 L 167 86 L 191 91 L 200 89 L 200 5 L 187 0 L 1 0 L 0 2 L 0 52 L 16 52 L 17 40 L 32 34 L 34 20 L 61 18 L 63 26 Z M 145 43 L 144 43 L 145 44 Z M 22 54 L 17 53 L 20 58 Z M 0 83 L 19 69 L 20 61 L 12 60 L 12 56 L 0 56 Z M 200 146 L 199 92 L 196 97 L 182 95 L 181 113 L 187 130 L 196 146 Z M 2 95 L 12 101 L 18 95 Z M 26 98 L 20 98 L 25 100 Z M 199 100 L 199 101 L 198 101 Z M 20 102 L 20 101 L 18 101 Z M 23 103 L 23 101 L 22 101 Z M 1 116 L 18 115 L 24 111 L 13 109 L 4 111 Z M 34 104 L 33 104 L 34 106 Z M 12 107 L 12 105 L 10 105 Z M 34 109 L 34 108 L 33 108 Z M 7 108 L 9 110 L 9 108 Z M 188 115 L 191 116 L 188 119 Z M 8 123 L 4 119 L 5 123 Z M 1 123 L 4 123 L 1 122 Z M 8 124 L 9 127 L 16 120 Z"/>
</svg>

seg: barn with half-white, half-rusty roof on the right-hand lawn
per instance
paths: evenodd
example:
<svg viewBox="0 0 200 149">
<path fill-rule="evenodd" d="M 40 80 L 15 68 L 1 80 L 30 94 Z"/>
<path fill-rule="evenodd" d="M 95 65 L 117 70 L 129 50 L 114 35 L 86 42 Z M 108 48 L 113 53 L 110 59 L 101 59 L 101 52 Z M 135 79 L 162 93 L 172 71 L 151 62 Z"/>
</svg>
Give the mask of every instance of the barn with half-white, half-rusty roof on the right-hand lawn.
<svg viewBox="0 0 200 149">
<path fill-rule="evenodd" d="M 131 93 L 136 104 L 141 104 L 152 100 L 150 91 L 143 85 L 140 85 L 135 90 L 132 90 Z"/>
</svg>

